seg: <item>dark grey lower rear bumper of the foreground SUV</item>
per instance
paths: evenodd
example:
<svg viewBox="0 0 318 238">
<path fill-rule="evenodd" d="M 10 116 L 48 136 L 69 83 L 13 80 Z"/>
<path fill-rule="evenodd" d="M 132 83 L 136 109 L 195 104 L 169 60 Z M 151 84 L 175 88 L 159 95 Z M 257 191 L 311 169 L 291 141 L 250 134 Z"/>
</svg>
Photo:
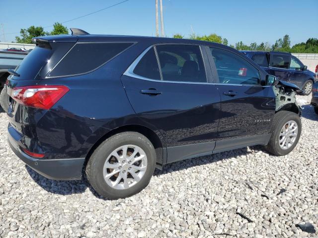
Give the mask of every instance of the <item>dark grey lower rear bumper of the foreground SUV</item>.
<svg viewBox="0 0 318 238">
<path fill-rule="evenodd" d="M 32 168 L 40 175 L 55 180 L 78 180 L 81 179 L 81 172 L 85 158 L 74 159 L 35 159 L 21 151 L 16 141 L 8 133 L 8 143 L 17 157 L 19 157 L 26 165 Z"/>
</svg>

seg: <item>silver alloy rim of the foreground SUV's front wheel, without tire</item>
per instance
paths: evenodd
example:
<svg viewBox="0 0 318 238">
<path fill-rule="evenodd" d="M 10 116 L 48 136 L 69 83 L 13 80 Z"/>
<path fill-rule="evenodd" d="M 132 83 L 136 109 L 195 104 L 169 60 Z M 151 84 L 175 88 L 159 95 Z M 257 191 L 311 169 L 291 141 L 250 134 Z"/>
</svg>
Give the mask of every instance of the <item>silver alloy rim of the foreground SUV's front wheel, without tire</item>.
<svg viewBox="0 0 318 238">
<path fill-rule="evenodd" d="M 296 121 L 287 121 L 279 133 L 279 146 L 283 150 L 289 149 L 296 141 L 298 125 Z"/>
</svg>

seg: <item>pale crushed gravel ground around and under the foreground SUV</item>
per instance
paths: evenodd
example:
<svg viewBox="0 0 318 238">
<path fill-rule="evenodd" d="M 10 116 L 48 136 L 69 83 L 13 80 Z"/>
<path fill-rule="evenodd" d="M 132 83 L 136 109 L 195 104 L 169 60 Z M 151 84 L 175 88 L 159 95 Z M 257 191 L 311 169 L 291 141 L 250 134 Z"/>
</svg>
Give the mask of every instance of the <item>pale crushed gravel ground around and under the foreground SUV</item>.
<svg viewBox="0 0 318 238">
<path fill-rule="evenodd" d="M 2 112 L 0 237 L 318 237 L 318 116 L 310 96 L 298 99 L 303 132 L 289 155 L 256 146 L 173 163 L 119 200 L 85 179 L 54 181 L 26 167 L 9 149 Z M 296 227 L 305 222 L 316 234 Z"/>
</svg>

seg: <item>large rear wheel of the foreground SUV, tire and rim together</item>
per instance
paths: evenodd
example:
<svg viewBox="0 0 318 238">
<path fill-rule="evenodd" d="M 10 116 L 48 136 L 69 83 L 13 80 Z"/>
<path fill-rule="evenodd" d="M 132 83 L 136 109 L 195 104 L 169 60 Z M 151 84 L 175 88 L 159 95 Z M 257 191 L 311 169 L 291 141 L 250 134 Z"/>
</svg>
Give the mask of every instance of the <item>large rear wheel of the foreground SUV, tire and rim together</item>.
<svg viewBox="0 0 318 238">
<path fill-rule="evenodd" d="M 137 132 L 122 132 L 101 143 L 89 158 L 86 176 L 95 191 L 108 198 L 125 198 L 144 189 L 156 167 L 150 140 Z"/>
</svg>

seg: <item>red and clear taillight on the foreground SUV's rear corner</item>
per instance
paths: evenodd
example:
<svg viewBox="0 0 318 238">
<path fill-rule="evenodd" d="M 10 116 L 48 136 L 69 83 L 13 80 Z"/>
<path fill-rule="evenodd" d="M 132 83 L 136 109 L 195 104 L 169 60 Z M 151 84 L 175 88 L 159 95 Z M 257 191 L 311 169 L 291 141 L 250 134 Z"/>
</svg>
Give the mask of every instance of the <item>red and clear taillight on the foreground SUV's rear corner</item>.
<svg viewBox="0 0 318 238">
<path fill-rule="evenodd" d="M 66 86 L 37 85 L 13 88 L 10 96 L 19 104 L 49 110 L 68 91 Z"/>
</svg>

